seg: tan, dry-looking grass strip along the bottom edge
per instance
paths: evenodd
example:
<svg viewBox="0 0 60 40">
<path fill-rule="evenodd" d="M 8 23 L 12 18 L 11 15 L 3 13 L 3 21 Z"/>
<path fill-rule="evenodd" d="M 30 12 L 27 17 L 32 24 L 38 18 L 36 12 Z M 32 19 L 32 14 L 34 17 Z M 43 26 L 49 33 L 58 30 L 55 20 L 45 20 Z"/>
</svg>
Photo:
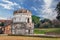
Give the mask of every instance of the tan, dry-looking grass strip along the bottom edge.
<svg viewBox="0 0 60 40">
<path fill-rule="evenodd" d="M 24 36 L 0 36 L 0 40 L 60 40 L 60 38 L 40 38 Z"/>
</svg>

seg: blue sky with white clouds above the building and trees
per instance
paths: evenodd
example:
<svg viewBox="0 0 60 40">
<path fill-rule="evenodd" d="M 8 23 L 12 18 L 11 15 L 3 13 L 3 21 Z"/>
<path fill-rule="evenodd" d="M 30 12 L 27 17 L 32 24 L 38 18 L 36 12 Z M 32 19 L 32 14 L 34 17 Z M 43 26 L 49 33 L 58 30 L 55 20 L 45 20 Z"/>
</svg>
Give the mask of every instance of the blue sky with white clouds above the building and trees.
<svg viewBox="0 0 60 40">
<path fill-rule="evenodd" d="M 21 8 L 30 10 L 33 15 L 55 19 L 54 10 L 60 0 L 0 0 L 0 18 L 10 18 L 14 10 Z"/>
</svg>

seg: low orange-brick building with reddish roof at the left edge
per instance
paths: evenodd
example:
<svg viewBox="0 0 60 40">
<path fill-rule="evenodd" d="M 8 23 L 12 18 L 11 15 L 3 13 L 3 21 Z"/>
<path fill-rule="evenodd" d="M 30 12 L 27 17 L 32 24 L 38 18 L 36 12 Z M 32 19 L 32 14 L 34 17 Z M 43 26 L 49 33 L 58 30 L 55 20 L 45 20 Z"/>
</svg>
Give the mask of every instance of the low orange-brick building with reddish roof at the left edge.
<svg viewBox="0 0 60 40">
<path fill-rule="evenodd" d="M 11 23 L 12 20 L 0 20 L 0 34 L 11 34 Z"/>
</svg>

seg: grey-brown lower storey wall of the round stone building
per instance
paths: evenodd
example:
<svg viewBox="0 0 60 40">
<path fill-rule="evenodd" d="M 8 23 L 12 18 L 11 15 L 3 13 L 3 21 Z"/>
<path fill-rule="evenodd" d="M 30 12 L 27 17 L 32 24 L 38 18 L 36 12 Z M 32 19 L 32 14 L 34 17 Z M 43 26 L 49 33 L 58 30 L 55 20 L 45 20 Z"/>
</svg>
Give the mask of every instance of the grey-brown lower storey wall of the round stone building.
<svg viewBox="0 0 60 40">
<path fill-rule="evenodd" d="M 27 23 L 14 24 L 12 34 L 33 34 L 33 29 L 32 26 L 27 26 Z"/>
</svg>

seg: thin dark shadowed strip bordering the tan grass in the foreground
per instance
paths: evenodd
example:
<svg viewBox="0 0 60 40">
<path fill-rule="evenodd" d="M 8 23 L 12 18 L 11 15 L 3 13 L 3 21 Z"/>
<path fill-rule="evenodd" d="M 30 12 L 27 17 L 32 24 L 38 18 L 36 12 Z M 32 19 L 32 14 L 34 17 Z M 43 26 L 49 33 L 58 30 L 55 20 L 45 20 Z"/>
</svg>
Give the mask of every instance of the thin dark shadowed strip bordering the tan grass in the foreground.
<svg viewBox="0 0 60 40">
<path fill-rule="evenodd" d="M 60 38 L 60 36 L 46 36 L 46 35 L 14 35 L 14 34 L 8 34 L 8 36 L 40 37 L 40 38 Z"/>
</svg>

